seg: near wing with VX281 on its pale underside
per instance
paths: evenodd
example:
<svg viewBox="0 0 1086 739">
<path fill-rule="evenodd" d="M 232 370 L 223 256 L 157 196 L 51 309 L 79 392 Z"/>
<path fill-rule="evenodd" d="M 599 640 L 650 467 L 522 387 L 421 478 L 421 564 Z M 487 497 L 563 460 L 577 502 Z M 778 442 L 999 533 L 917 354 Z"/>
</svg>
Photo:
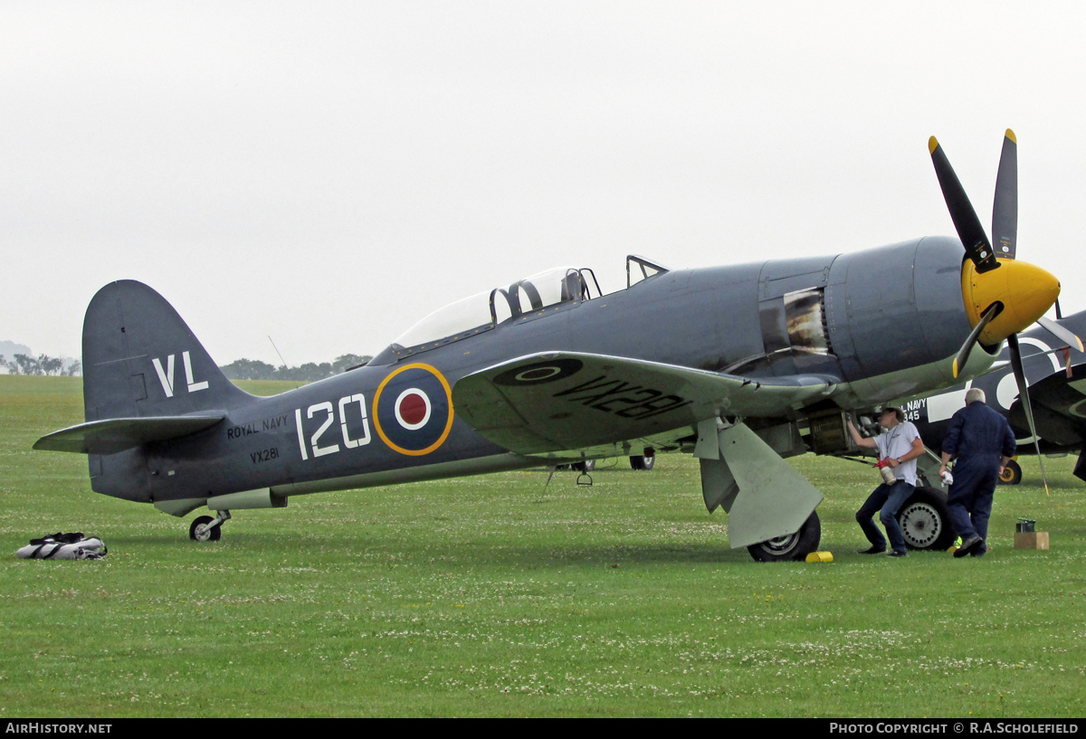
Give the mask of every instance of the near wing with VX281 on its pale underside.
<svg viewBox="0 0 1086 739">
<path fill-rule="evenodd" d="M 782 416 L 825 397 L 825 375 L 742 378 L 641 359 L 531 354 L 460 378 L 456 413 L 480 435 L 531 455 L 611 444 L 716 416 Z"/>
</svg>

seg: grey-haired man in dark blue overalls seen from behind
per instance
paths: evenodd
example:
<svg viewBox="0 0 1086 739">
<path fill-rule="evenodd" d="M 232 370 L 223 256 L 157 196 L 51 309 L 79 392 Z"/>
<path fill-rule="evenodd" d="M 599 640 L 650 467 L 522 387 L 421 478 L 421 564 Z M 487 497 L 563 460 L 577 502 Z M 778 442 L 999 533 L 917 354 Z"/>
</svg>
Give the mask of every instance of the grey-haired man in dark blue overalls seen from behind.
<svg viewBox="0 0 1086 739">
<path fill-rule="evenodd" d="M 984 540 L 988 536 L 988 517 L 996 481 L 1014 456 L 1014 433 L 1007 419 L 984 405 L 984 391 L 970 387 L 965 393 L 965 407 L 950 419 L 950 428 L 943 441 L 943 466 L 954 463 L 954 484 L 947 505 L 950 520 L 961 537 L 955 557 L 981 557 L 987 551 Z"/>
</svg>

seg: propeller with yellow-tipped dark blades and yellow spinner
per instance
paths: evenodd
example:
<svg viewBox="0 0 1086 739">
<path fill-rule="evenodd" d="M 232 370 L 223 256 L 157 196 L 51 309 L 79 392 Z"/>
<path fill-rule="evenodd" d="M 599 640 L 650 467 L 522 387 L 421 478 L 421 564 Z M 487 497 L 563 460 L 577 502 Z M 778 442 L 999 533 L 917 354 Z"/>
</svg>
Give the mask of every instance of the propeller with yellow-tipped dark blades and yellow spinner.
<svg viewBox="0 0 1086 739">
<path fill-rule="evenodd" d="M 1077 346 L 1079 352 L 1083 351 L 1083 343 L 1074 333 L 1044 317 L 1060 294 L 1060 283 L 1056 278 L 1039 267 L 1015 259 L 1018 140 L 1014 138 L 1014 132 L 1008 128 L 999 157 L 996 196 L 992 207 L 993 241 L 988 241 L 984 227 L 981 226 L 981 219 L 977 218 L 965 190 L 943 152 L 943 146 L 934 136 L 927 142 L 927 150 L 935 165 L 935 174 L 939 178 L 939 187 L 947 209 L 950 212 L 950 219 L 968 257 L 962 262 L 961 286 L 965 313 L 973 330 L 955 356 L 954 377 L 957 378 L 969 360 L 970 352 L 977 343 L 996 346 L 1006 340 L 1019 396 L 1022 398 L 1025 417 L 1030 423 L 1037 458 L 1040 459 L 1040 445 L 1037 443 L 1033 407 L 1030 404 L 1030 388 L 1022 369 L 1018 332 L 1037 321 L 1061 341 Z M 1045 479 L 1044 462 L 1040 472 L 1041 479 Z M 1047 479 L 1045 479 L 1045 492 L 1048 492 Z"/>
</svg>

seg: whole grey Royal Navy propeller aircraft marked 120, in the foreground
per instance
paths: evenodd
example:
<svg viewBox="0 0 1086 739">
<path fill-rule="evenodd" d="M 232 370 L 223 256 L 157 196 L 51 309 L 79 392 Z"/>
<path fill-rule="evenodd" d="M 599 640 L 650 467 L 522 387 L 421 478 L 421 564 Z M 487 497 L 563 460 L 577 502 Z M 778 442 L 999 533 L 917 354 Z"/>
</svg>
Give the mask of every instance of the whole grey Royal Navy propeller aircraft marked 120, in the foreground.
<svg viewBox="0 0 1086 739">
<path fill-rule="evenodd" d="M 630 256 L 626 289 L 609 294 L 591 269 L 563 267 L 267 398 L 231 384 L 156 292 L 113 282 L 84 321 L 86 423 L 35 448 L 89 455 L 98 493 L 178 517 L 206 506 L 216 515 L 192 522 L 198 540 L 217 539 L 231 510 L 295 495 L 693 453 L 733 548 L 800 559 L 818 547 L 822 494 L 783 458 L 847 451 L 847 411 L 975 378 L 1005 340 L 1018 357 L 1015 333 L 1059 295 L 1055 277 L 1015 260 L 1013 135 L 996 250 L 934 138 L 931 153 L 961 243 L 681 270 Z"/>
</svg>

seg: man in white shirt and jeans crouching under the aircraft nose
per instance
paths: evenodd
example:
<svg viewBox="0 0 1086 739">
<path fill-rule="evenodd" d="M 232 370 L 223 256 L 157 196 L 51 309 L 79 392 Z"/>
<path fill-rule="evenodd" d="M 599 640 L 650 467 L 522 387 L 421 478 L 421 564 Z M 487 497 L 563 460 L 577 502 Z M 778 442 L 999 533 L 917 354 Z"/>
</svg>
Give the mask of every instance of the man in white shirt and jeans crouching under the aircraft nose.
<svg viewBox="0 0 1086 739">
<path fill-rule="evenodd" d="M 905 557 L 908 555 L 908 549 L 905 546 L 901 527 L 897 523 L 897 512 L 917 489 L 917 458 L 924 454 L 924 443 L 920 441 L 917 426 L 905 420 L 905 413 L 900 408 L 884 408 L 879 416 L 879 423 L 886 429 L 886 432 L 864 438 L 860 436 L 851 420 L 848 422 L 848 433 L 851 434 L 853 441 L 858 446 L 877 449 L 880 461 L 886 461 L 895 477 L 893 484 L 883 483 L 876 487 L 860 510 L 856 511 L 856 521 L 871 543 L 871 548 L 860 553 L 881 555 L 886 551 L 886 539 L 872 521 L 875 511 L 879 511 L 879 520 L 882 521 L 886 536 L 889 537 L 892 548 L 889 556 Z"/>
</svg>

